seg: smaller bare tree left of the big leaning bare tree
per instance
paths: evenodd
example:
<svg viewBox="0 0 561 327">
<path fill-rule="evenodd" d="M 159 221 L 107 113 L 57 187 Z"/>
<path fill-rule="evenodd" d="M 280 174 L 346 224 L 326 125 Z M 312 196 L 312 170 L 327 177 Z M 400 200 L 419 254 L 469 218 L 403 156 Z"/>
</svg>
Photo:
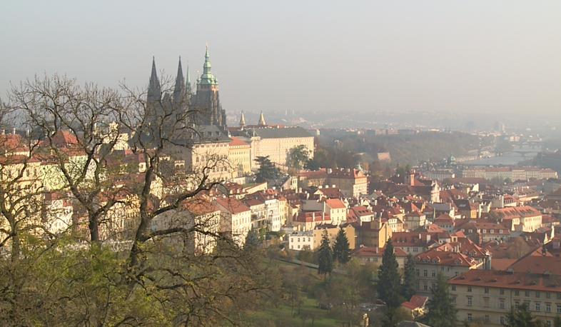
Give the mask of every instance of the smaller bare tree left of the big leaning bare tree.
<svg viewBox="0 0 561 327">
<path fill-rule="evenodd" d="M 119 141 L 120 126 L 111 131 L 108 126 L 121 109 L 118 92 L 93 84 L 81 87 L 74 79 L 54 75 L 27 80 L 11 96 L 40 141 L 38 151 L 56 166 L 59 176 L 47 187 L 71 191 L 87 212 L 91 241 L 100 241 L 103 216 L 118 203 L 115 195 L 121 191 L 107 176 L 115 172 L 107 159 Z"/>
</svg>

